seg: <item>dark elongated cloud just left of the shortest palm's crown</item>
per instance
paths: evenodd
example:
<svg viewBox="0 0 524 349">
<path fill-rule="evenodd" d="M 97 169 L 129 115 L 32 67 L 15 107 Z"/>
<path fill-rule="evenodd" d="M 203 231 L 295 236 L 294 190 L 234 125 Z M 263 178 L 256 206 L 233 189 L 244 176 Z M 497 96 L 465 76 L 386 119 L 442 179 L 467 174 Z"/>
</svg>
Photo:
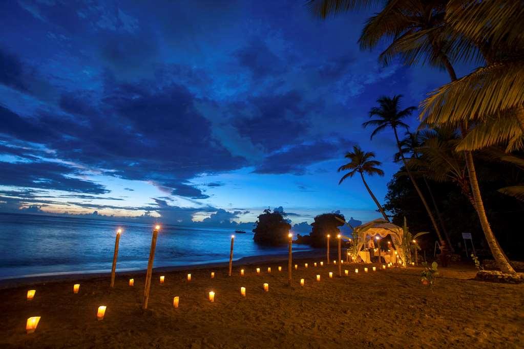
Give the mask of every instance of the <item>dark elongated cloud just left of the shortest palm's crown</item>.
<svg viewBox="0 0 524 349">
<path fill-rule="evenodd" d="M 306 173 L 306 168 L 314 163 L 340 157 L 340 154 L 347 151 L 351 144 L 352 142 L 347 140 L 337 140 L 296 145 L 286 151 L 269 155 L 255 167 L 254 172 L 303 175 Z"/>
</svg>

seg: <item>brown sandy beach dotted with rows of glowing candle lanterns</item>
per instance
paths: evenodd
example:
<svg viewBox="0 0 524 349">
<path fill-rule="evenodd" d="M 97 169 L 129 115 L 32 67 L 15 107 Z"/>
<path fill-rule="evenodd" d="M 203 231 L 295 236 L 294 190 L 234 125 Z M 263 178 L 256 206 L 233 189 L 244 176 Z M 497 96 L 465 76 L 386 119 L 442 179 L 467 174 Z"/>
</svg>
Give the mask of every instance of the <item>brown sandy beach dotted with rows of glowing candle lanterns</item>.
<svg viewBox="0 0 524 349">
<path fill-rule="evenodd" d="M 287 285 L 285 256 L 180 270 L 154 269 L 143 311 L 143 272 L 61 276 L 4 284 L 2 347 L 522 347 L 524 286 L 472 280 L 474 268 L 441 269 L 433 288 L 420 284 L 420 267 L 372 272 L 373 265 L 314 267 L 322 258 L 295 258 Z M 269 262 L 270 258 L 272 262 Z M 305 268 L 304 263 L 309 267 Z M 278 266 L 282 271 L 278 272 Z M 369 268 L 364 273 L 364 267 Z M 260 275 L 256 268 L 260 268 Z M 267 268 L 271 267 L 271 273 Z M 240 269 L 245 269 L 245 276 Z M 355 274 L 355 268 L 359 273 Z M 211 278 L 211 272 L 215 277 Z M 190 272 L 192 280 L 187 281 Z M 333 272 L 333 278 L 329 278 Z M 315 276 L 321 275 L 316 282 Z M 165 275 L 165 283 L 159 283 Z M 128 279 L 134 278 L 134 287 Z M 300 286 L 300 279 L 305 285 Z M 73 294 L 73 284 L 81 284 Z M 269 284 L 265 292 L 263 284 Z M 240 294 L 246 287 L 246 297 Z M 28 289 L 35 289 L 32 301 Z M 215 301 L 208 292 L 215 292 Z M 173 297 L 180 297 L 179 308 Z M 105 318 L 96 311 L 107 306 Z M 26 319 L 40 316 L 35 333 Z"/>
</svg>

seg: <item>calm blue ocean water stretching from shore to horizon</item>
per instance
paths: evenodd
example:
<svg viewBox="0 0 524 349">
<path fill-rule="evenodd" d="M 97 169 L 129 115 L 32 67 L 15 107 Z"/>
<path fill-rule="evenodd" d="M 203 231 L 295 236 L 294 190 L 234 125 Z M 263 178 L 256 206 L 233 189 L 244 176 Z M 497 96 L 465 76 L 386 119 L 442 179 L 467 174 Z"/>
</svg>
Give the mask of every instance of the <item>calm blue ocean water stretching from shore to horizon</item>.
<svg viewBox="0 0 524 349">
<path fill-rule="evenodd" d="M 123 233 L 117 271 L 147 268 L 150 224 L 0 213 L 0 279 L 110 272 L 118 227 Z M 255 244 L 251 231 L 237 234 L 233 229 L 163 225 L 154 267 L 226 262 L 231 234 L 235 234 L 234 260 L 287 251 L 286 246 Z M 297 245 L 293 249 L 309 248 Z"/>
</svg>

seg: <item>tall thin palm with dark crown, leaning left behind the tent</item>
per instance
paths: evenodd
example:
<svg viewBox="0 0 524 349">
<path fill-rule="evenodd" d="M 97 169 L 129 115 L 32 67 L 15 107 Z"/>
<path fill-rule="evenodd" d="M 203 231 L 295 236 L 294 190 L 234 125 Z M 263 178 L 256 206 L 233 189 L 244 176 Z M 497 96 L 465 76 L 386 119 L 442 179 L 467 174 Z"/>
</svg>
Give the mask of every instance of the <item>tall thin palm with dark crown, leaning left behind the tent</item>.
<svg viewBox="0 0 524 349">
<path fill-rule="evenodd" d="M 402 95 L 396 95 L 393 98 L 389 98 L 386 96 L 380 97 L 377 99 L 379 107 L 373 107 L 369 111 L 369 117 L 377 117 L 377 119 L 366 121 L 362 124 L 364 127 L 368 126 L 374 126 L 375 129 L 371 133 L 371 139 L 373 137 L 381 132 L 384 131 L 387 128 L 391 128 L 395 134 L 395 140 L 397 141 L 397 147 L 400 153 L 400 158 L 402 159 L 402 162 L 404 163 L 404 166 L 406 167 L 406 172 L 408 173 L 409 178 L 411 179 L 411 183 L 413 183 L 413 187 L 417 191 L 417 194 L 420 197 L 420 200 L 422 201 L 422 204 L 424 205 L 426 211 L 428 212 L 428 216 L 431 219 L 431 223 L 433 224 L 433 228 L 435 229 L 436 235 L 439 237 L 440 243 L 444 244 L 444 239 L 442 239 L 442 235 L 440 234 L 440 229 L 438 225 L 436 224 L 436 220 L 433 217 L 433 213 L 431 212 L 431 209 L 428 205 L 428 202 L 425 200 L 424 195 L 422 194 L 417 182 L 415 181 L 415 178 L 413 177 L 413 174 L 411 173 L 408 163 L 406 161 L 406 157 L 402 153 L 402 147 L 400 144 L 400 139 L 398 138 L 398 128 L 405 128 L 406 130 L 409 129 L 409 126 L 402 121 L 403 118 L 410 116 L 414 110 L 416 110 L 416 107 L 408 107 L 406 109 L 400 110 L 400 98 L 402 98 Z"/>
</svg>

